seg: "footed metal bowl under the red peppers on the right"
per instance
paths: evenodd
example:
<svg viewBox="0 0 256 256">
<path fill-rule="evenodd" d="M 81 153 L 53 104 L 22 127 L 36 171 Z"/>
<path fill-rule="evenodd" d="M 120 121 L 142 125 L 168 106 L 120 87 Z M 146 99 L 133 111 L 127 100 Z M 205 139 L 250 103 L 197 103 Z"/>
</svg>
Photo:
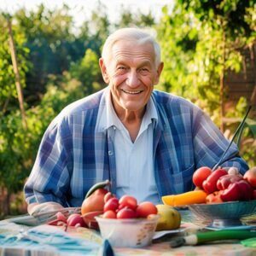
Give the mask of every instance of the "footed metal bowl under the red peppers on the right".
<svg viewBox="0 0 256 256">
<path fill-rule="evenodd" d="M 194 204 L 188 207 L 197 218 L 210 222 L 213 228 L 242 225 L 241 218 L 256 214 L 256 200 Z"/>
</svg>

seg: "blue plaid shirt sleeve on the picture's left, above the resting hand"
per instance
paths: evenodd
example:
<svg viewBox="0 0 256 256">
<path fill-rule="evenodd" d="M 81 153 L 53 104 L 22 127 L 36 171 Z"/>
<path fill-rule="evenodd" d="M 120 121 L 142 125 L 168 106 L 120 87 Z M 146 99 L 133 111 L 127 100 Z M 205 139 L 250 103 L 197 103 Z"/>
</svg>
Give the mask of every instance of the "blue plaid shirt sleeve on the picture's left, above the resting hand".
<svg viewBox="0 0 256 256">
<path fill-rule="evenodd" d="M 56 118 L 44 133 L 32 172 L 24 187 L 28 204 L 55 201 L 68 207 L 67 191 L 72 163 L 70 143 L 72 139 L 67 119 Z"/>
</svg>

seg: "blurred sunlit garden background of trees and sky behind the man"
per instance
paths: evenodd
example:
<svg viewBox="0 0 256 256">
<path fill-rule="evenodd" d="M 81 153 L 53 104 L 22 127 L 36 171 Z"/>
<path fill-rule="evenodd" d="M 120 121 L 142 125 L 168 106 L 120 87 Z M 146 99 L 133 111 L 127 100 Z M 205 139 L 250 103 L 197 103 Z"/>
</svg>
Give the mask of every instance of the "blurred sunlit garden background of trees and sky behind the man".
<svg viewBox="0 0 256 256">
<path fill-rule="evenodd" d="M 157 33 L 156 89 L 203 108 L 256 166 L 256 4 L 253 0 L 0 0 L 0 218 L 26 212 L 22 189 L 49 122 L 106 85 L 98 58 L 124 26 Z"/>
</svg>

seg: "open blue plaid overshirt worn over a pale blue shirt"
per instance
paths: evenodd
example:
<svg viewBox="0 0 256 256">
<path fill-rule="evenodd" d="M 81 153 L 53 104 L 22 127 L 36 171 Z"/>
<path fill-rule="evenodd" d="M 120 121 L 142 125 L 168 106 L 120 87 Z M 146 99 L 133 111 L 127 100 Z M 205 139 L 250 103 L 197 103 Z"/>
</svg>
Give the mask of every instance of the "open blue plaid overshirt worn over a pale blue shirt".
<svg viewBox="0 0 256 256">
<path fill-rule="evenodd" d="M 113 134 L 98 125 L 107 90 L 74 102 L 51 122 L 24 187 L 28 204 L 55 201 L 63 207 L 79 207 L 88 189 L 105 179 L 111 180 L 115 193 Z M 158 193 L 163 196 L 194 189 L 193 172 L 201 166 L 214 166 L 229 141 L 191 102 L 158 90 L 151 97 L 158 113 L 153 142 Z M 236 166 L 241 173 L 248 169 L 235 144 L 225 159 L 222 166 Z"/>
</svg>

